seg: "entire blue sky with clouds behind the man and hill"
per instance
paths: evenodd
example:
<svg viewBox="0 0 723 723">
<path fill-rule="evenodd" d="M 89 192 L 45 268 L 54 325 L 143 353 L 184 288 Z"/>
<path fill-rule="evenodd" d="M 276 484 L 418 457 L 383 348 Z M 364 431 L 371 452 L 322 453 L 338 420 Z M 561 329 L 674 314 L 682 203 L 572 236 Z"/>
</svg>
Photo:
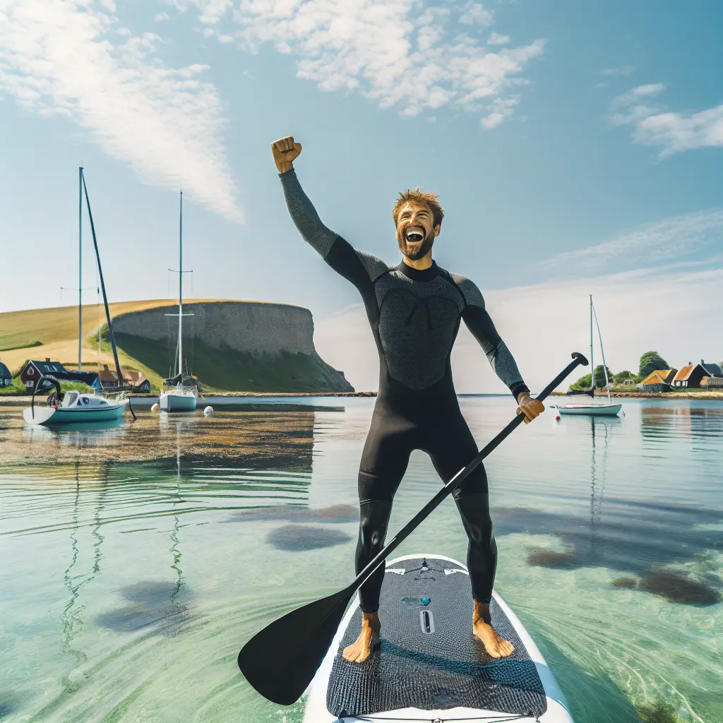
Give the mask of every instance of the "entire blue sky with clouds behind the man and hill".
<svg viewBox="0 0 723 723">
<path fill-rule="evenodd" d="M 311 309 L 375 389 L 356 290 L 288 217 L 291 134 L 322 220 L 390 265 L 398 192 L 439 194 L 435 260 L 533 389 L 587 350 L 589 294 L 614 371 L 719 361 L 721 27 L 717 0 L 0 0 L 0 312 L 77 303 L 82 165 L 111 301 L 174 294 L 182 188 L 188 295 Z M 504 391 L 466 330 L 453 371 Z"/>
</svg>

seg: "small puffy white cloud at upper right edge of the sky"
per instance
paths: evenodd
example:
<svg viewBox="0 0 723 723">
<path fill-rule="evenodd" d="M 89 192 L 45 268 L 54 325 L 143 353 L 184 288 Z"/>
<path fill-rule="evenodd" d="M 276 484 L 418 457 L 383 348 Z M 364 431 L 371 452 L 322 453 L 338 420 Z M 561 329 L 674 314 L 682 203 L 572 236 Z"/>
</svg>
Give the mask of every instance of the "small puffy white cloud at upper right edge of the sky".
<svg viewBox="0 0 723 723">
<path fill-rule="evenodd" d="M 683 150 L 723 147 L 723 103 L 698 113 L 675 113 L 649 100 L 662 93 L 662 83 L 641 85 L 612 102 L 610 122 L 633 126 L 633 141 L 660 147 L 667 158 Z"/>
</svg>

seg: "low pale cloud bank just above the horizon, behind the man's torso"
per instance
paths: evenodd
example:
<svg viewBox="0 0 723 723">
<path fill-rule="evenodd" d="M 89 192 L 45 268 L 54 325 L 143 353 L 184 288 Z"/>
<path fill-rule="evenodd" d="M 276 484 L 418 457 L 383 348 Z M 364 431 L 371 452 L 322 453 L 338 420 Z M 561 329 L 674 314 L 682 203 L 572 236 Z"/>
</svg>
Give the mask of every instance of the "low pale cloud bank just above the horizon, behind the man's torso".
<svg viewBox="0 0 723 723">
<path fill-rule="evenodd" d="M 711 329 L 719 328 L 723 315 L 722 287 L 723 268 L 665 275 L 641 270 L 489 291 L 484 297 L 523 377 L 539 390 L 569 361 L 570 352 L 588 355 L 588 294 L 594 294 L 605 360 L 615 372 L 636 371 L 641 354 L 651 349 L 677 368 L 701 358 L 720 359 L 723 347 Z M 315 345 L 325 361 L 343 369 L 356 389 L 377 389 L 377 350 L 361 305 L 316 320 L 315 328 Z M 595 355 L 599 364 L 597 342 Z M 452 366 L 458 392 L 505 393 L 464 325 Z"/>
</svg>

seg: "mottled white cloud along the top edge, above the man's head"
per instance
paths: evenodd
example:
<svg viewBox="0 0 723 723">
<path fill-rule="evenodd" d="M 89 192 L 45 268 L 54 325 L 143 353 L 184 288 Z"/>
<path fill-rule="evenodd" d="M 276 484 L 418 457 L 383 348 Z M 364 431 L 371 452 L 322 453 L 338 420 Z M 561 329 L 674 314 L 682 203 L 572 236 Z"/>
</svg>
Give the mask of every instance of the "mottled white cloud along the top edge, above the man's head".
<svg viewBox="0 0 723 723">
<path fill-rule="evenodd" d="M 458 108 L 479 114 L 484 128 L 513 113 L 521 87 L 529 83 L 522 74 L 545 44 L 538 39 L 490 49 L 469 34 L 494 20 L 492 11 L 475 2 L 241 0 L 233 11 L 235 30 L 223 31 L 216 27 L 230 4 L 225 0 L 176 4 L 197 7 L 212 33 L 234 33 L 247 51 L 270 43 L 296 56 L 297 75 L 322 90 L 361 93 L 403 116 Z"/>
</svg>

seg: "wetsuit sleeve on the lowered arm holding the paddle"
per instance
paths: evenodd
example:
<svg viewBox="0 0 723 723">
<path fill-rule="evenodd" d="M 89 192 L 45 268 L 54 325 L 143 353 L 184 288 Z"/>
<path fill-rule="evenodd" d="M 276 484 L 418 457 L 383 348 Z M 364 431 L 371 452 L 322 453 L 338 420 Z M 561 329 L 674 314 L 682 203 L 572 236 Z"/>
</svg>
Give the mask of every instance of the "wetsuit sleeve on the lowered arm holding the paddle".
<svg viewBox="0 0 723 723">
<path fill-rule="evenodd" d="M 474 283 L 469 278 L 453 275 L 457 288 L 464 297 L 465 307 L 462 318 L 474 338 L 479 341 L 485 356 L 495 369 L 495 374 L 510 388 L 515 399 L 522 392 L 529 392 L 529 387 L 523 382 L 520 370 L 517 368 L 515 358 L 507 345 L 497 333 L 492 319 L 484 308 L 484 299 Z"/>
</svg>

